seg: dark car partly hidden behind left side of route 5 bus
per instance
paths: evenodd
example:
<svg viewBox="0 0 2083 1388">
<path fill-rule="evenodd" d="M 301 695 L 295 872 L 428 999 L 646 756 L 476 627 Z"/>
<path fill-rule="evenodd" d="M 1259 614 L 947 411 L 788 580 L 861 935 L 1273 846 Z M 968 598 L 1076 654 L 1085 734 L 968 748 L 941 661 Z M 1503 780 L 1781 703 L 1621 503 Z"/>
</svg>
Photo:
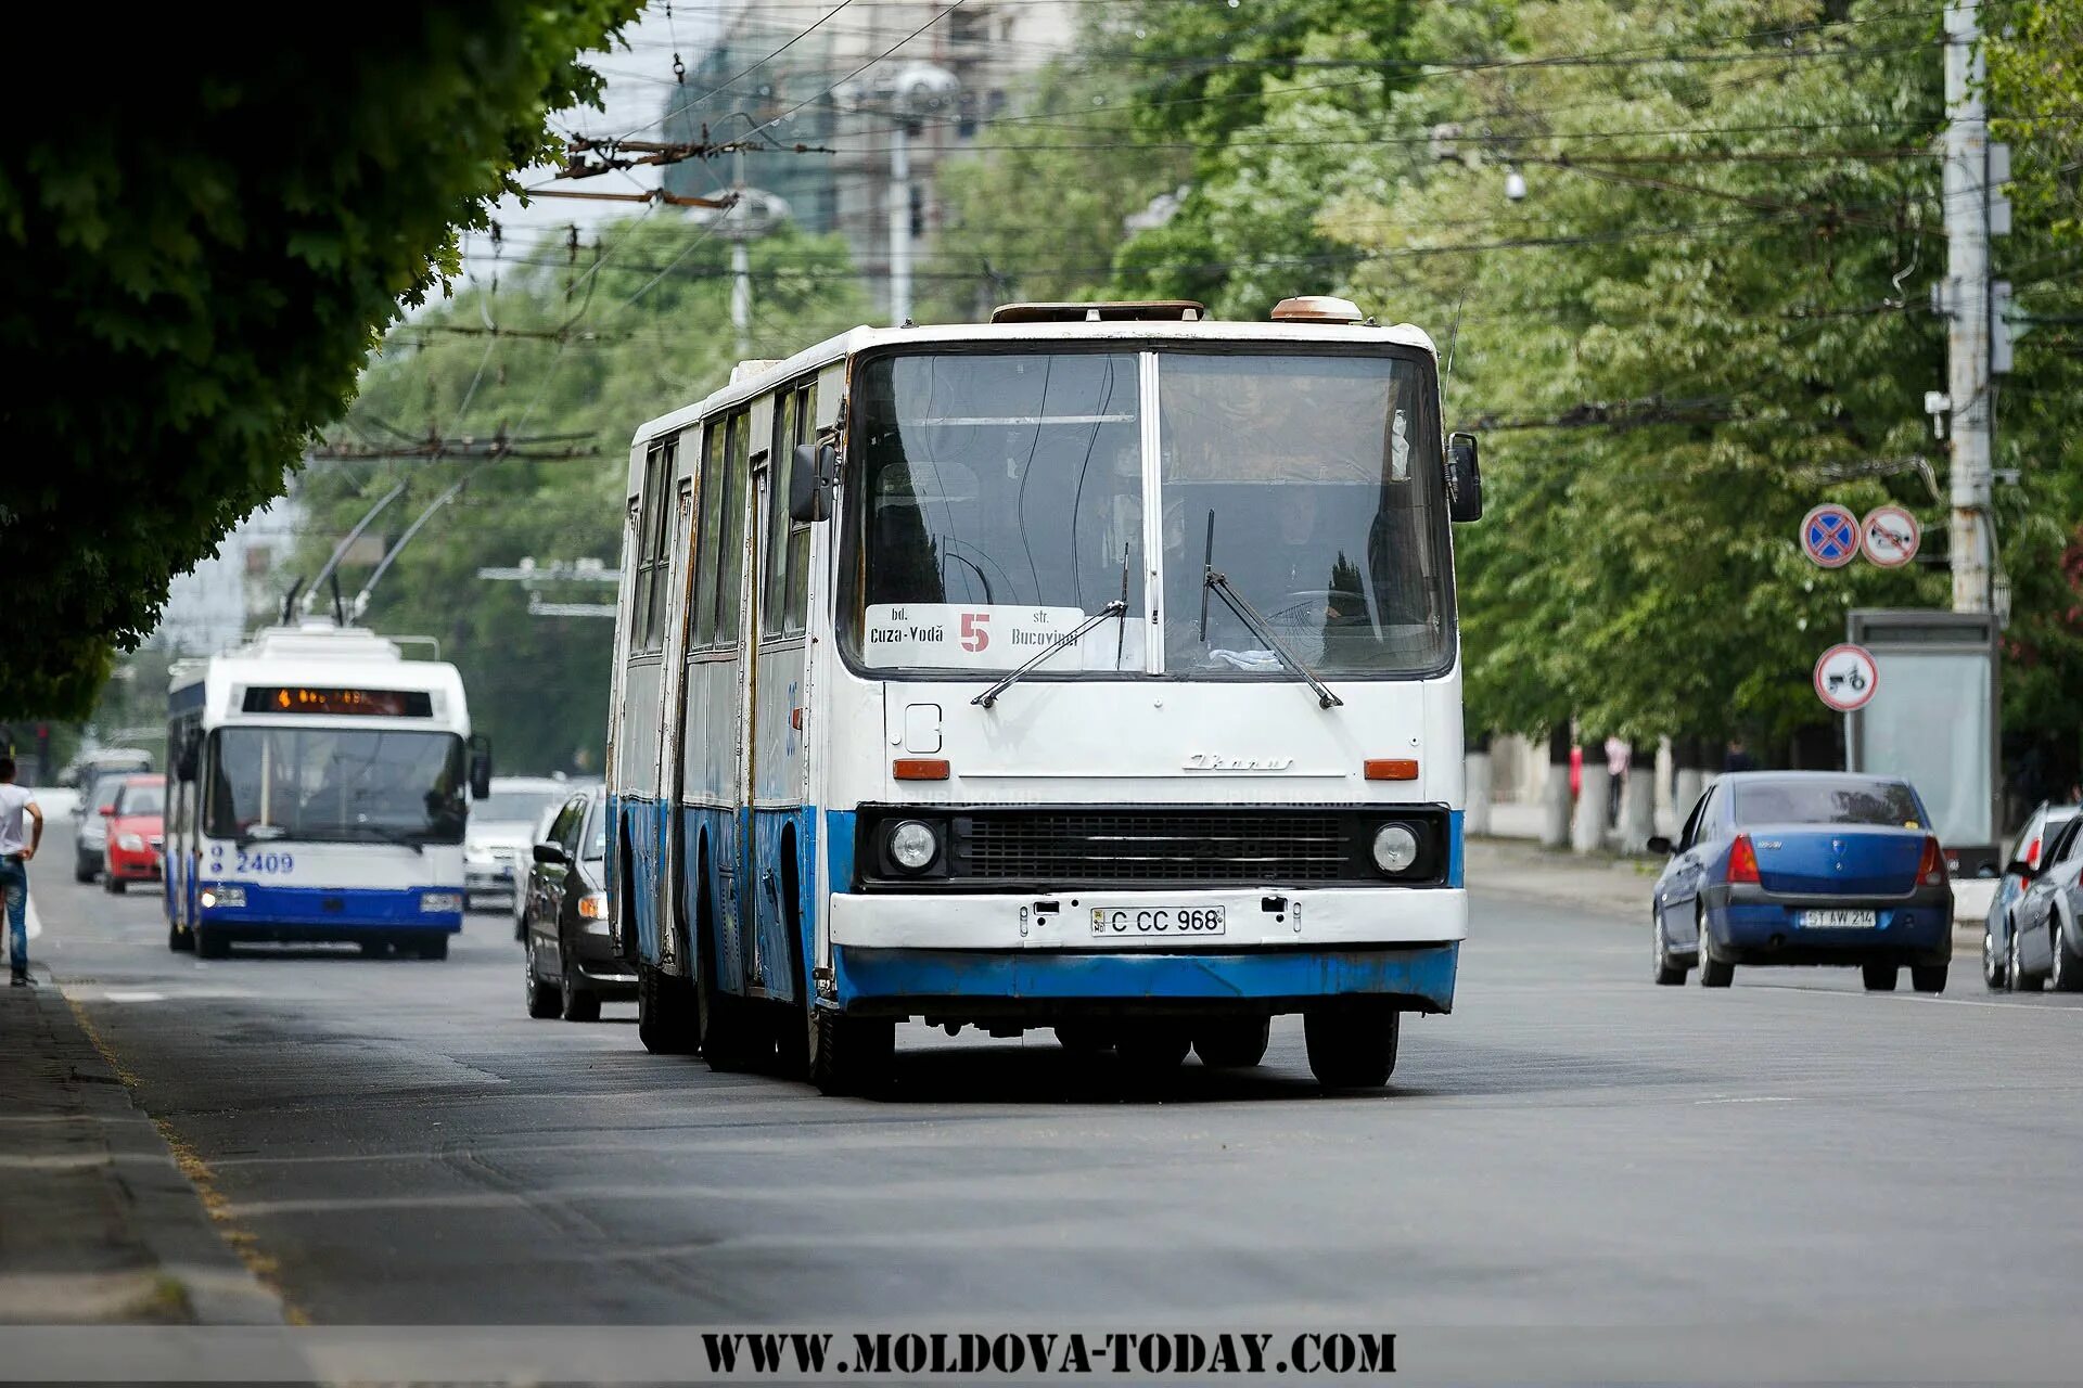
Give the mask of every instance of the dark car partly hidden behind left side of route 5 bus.
<svg viewBox="0 0 2083 1388">
<path fill-rule="evenodd" d="M 606 895 L 606 791 L 573 795 L 533 849 L 523 893 L 527 1016 L 598 1022 L 600 1003 L 637 995 L 614 953 Z"/>
</svg>

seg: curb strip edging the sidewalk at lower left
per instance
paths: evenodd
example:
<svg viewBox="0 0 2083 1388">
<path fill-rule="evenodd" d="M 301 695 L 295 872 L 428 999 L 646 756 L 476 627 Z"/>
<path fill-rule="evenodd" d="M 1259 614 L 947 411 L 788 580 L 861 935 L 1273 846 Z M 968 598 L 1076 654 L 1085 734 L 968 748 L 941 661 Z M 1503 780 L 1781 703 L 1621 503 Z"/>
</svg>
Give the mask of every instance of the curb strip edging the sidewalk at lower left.
<svg viewBox="0 0 2083 1388">
<path fill-rule="evenodd" d="M 179 1280 L 196 1323 L 283 1326 L 281 1299 L 225 1242 L 202 1192 L 181 1172 L 158 1124 L 135 1101 L 135 1076 L 125 1074 L 92 1032 L 92 1022 L 65 997 L 48 970 L 37 970 L 35 1009 L 54 1040 L 52 1059 L 73 1078 L 81 1117 L 108 1149 L 108 1182 L 125 1222 L 162 1274 Z"/>
</svg>

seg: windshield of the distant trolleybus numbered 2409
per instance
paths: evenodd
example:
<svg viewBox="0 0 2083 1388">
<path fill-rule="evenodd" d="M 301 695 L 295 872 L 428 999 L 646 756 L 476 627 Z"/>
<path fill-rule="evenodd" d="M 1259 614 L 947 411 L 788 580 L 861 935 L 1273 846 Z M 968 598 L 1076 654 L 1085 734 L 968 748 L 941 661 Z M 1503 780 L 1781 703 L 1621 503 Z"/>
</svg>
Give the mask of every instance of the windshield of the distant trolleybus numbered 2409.
<svg viewBox="0 0 2083 1388">
<path fill-rule="evenodd" d="M 462 843 L 462 739 L 365 728 L 219 728 L 208 832 L 319 843 Z"/>
</svg>

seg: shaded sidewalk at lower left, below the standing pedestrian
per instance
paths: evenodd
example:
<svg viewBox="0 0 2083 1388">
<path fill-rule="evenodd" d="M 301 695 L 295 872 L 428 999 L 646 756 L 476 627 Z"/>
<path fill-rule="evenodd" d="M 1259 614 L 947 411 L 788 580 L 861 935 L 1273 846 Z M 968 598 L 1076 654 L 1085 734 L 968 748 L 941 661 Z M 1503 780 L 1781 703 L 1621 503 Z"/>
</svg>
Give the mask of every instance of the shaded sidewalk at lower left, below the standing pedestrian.
<svg viewBox="0 0 2083 1388">
<path fill-rule="evenodd" d="M 42 968 L 0 984 L 0 1323 L 279 1326 Z"/>
</svg>

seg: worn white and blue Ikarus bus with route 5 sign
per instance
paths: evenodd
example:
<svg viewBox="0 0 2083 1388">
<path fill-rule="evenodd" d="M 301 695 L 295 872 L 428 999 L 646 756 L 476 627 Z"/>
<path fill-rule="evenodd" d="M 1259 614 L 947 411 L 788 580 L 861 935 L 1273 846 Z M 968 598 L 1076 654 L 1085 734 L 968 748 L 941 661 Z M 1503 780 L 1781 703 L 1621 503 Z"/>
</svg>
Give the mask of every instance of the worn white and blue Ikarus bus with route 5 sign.
<svg viewBox="0 0 2083 1388">
<path fill-rule="evenodd" d="M 1152 1072 L 1448 1011 L 1462 714 L 1431 339 L 1023 304 L 746 362 L 629 458 L 610 926 L 639 1032 L 881 1082 L 896 1022 Z"/>
</svg>

